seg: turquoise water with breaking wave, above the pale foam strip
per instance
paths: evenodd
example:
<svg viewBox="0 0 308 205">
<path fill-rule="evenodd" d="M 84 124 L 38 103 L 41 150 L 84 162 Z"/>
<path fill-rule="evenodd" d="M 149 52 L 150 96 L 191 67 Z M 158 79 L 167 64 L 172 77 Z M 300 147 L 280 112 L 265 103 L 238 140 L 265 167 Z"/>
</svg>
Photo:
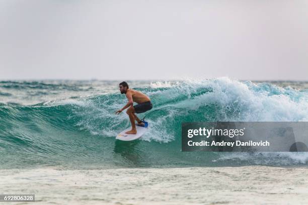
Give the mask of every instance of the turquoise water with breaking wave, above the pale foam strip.
<svg viewBox="0 0 308 205">
<path fill-rule="evenodd" d="M 127 102 L 118 83 L 0 81 L 0 168 L 308 164 L 308 153 L 181 152 L 181 122 L 308 121 L 308 82 L 128 81 L 158 110 L 134 142 L 115 141 L 130 125 L 125 112 L 114 114 Z"/>
</svg>

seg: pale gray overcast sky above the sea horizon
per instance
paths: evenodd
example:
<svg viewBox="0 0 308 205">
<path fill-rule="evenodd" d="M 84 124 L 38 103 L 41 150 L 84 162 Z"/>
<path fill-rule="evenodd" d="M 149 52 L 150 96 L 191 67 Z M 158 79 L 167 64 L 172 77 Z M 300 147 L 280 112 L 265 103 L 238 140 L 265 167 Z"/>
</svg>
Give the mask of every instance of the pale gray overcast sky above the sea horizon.
<svg viewBox="0 0 308 205">
<path fill-rule="evenodd" d="M 300 0 L 0 0 L 0 78 L 308 80 L 307 11 Z"/>
</svg>

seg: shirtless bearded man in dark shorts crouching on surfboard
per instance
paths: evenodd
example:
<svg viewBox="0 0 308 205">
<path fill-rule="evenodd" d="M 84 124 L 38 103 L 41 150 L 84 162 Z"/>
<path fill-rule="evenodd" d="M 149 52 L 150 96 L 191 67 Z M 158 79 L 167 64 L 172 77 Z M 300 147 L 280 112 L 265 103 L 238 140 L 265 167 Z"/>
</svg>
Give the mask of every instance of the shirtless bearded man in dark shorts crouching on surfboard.
<svg viewBox="0 0 308 205">
<path fill-rule="evenodd" d="M 131 130 L 125 133 L 137 134 L 135 120 L 137 121 L 138 125 L 144 125 L 144 124 L 139 120 L 139 118 L 135 115 L 135 113 L 144 113 L 146 111 L 151 110 L 152 104 L 150 98 L 145 94 L 143 94 L 142 92 L 129 89 L 128 84 L 125 81 L 121 82 L 119 85 L 121 94 L 123 93 L 126 94 L 128 102 L 121 110 L 117 111 L 116 114 L 121 113 L 123 110 L 129 107 L 126 113 L 129 116 L 129 120 L 131 123 Z M 137 102 L 138 105 L 133 106 L 133 102 Z"/>
</svg>

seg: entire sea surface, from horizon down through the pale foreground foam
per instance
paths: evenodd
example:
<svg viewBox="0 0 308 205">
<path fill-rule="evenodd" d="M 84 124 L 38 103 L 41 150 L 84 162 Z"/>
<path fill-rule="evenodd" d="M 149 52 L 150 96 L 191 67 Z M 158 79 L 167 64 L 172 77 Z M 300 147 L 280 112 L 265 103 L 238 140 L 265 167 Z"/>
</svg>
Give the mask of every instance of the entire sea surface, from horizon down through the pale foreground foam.
<svg viewBox="0 0 308 205">
<path fill-rule="evenodd" d="M 38 204 L 308 203 L 308 153 L 181 152 L 181 122 L 308 121 L 308 82 L 128 81 L 153 104 L 133 142 L 115 140 L 130 125 L 115 115 L 127 102 L 118 84 L 0 81 L 0 193 Z"/>
</svg>

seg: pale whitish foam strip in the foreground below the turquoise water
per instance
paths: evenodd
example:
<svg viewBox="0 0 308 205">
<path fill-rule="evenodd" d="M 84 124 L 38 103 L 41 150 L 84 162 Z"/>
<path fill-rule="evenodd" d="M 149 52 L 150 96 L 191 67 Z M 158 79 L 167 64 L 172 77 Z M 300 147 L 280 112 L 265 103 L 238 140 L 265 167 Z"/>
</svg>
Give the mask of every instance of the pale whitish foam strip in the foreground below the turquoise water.
<svg viewBox="0 0 308 205">
<path fill-rule="evenodd" d="M 4 169 L 0 176 L 1 193 L 35 194 L 39 204 L 308 203 L 304 167 Z"/>
</svg>

